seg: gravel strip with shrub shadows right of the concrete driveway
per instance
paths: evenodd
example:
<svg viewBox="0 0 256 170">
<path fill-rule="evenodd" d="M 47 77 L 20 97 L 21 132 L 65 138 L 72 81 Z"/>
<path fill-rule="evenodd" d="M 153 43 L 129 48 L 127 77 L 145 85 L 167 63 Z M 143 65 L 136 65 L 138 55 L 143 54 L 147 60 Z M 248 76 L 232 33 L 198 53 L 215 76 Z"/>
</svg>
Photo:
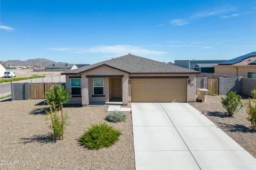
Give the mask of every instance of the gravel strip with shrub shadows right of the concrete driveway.
<svg viewBox="0 0 256 170">
<path fill-rule="evenodd" d="M 247 120 L 245 106 L 248 101 L 248 98 L 243 96 L 244 107 L 234 117 L 225 114 L 226 109 L 222 107 L 221 96 L 208 95 L 206 103 L 189 104 L 201 112 L 204 111 L 207 118 L 256 158 L 256 132 L 252 131 L 250 122 Z"/>
</svg>

